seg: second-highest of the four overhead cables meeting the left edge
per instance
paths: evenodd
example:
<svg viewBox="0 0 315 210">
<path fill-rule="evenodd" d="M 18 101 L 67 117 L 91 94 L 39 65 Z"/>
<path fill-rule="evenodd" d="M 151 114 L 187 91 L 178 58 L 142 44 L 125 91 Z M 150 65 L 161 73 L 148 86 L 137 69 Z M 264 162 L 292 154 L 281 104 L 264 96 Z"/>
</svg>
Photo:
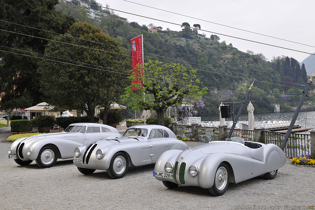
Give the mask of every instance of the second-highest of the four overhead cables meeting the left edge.
<svg viewBox="0 0 315 210">
<path fill-rule="evenodd" d="M 90 47 L 81 46 L 81 45 L 77 45 L 77 44 L 65 43 L 65 42 L 60 42 L 60 41 L 52 40 L 52 39 L 46 39 L 46 38 L 42 38 L 42 37 L 35 37 L 35 36 L 32 36 L 32 35 L 22 34 L 22 33 L 13 32 L 13 31 L 7 31 L 7 30 L 3 30 L 3 29 L 0 29 L 0 31 L 6 31 L 6 32 L 11 32 L 11 33 L 16 33 L 16 34 L 20 34 L 20 35 L 29 36 L 29 37 L 34 37 L 34 38 L 49 40 L 49 41 L 52 41 L 52 42 L 58 42 L 58 43 L 63 43 L 63 44 L 69 44 L 69 45 L 77 46 L 77 47 L 83 47 L 83 48 L 88 48 L 88 49 L 99 50 L 99 51 L 102 51 L 102 52 L 107 52 L 107 53 L 112 53 L 112 54 L 124 55 L 124 56 L 129 56 L 129 57 L 135 57 L 135 56 L 131 56 L 131 55 L 125 55 L 125 54 L 120 54 L 120 53 L 114 53 L 114 52 L 111 52 L 111 51 L 106 51 L 106 50 L 101 50 L 101 49 L 90 48 Z M 136 57 L 135 57 L 135 58 L 136 58 Z M 149 60 L 149 59 L 145 59 L 145 60 Z M 185 67 L 185 68 L 190 68 L 190 69 L 195 69 L 195 68 L 192 68 L 192 67 L 186 67 L 186 66 L 183 66 L 183 67 Z M 220 75 L 229 76 L 229 77 L 236 77 L 236 78 L 241 78 L 241 79 L 248 79 L 248 78 L 244 78 L 244 77 L 238 77 L 238 76 L 223 74 L 223 73 L 214 72 L 214 71 L 207 71 L 207 70 L 202 70 L 202 69 L 196 69 L 196 70 L 199 70 L 199 71 L 206 71 L 206 72 L 210 72 L 210 73 L 214 73 L 214 74 L 220 74 Z M 275 83 L 272 83 L 272 82 L 265 82 L 265 81 L 260 81 L 260 80 L 256 80 L 256 81 L 257 81 L 257 82 L 268 83 L 268 84 L 273 84 L 273 85 L 280 85 L 280 86 L 289 87 L 289 88 L 295 88 L 295 87 L 291 87 L 291 86 L 286 86 L 286 85 L 281 85 L 281 84 L 275 84 Z M 302 88 L 296 88 L 296 89 L 302 89 Z"/>
</svg>

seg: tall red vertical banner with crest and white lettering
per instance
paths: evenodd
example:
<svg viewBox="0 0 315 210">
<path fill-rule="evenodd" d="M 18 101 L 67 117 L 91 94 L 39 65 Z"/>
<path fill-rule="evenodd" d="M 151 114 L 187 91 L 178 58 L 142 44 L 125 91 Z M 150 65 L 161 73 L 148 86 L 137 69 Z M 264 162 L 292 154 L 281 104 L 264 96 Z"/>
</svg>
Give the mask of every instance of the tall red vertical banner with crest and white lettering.
<svg viewBox="0 0 315 210">
<path fill-rule="evenodd" d="M 138 37 L 130 39 L 131 48 L 132 48 L 132 74 L 134 75 L 135 79 L 132 80 L 132 83 L 138 83 L 143 87 L 140 79 L 138 77 L 143 76 L 143 70 L 137 70 L 136 66 L 141 65 L 143 63 L 143 36 L 142 34 Z M 137 90 L 136 87 L 131 87 L 132 90 Z"/>
</svg>

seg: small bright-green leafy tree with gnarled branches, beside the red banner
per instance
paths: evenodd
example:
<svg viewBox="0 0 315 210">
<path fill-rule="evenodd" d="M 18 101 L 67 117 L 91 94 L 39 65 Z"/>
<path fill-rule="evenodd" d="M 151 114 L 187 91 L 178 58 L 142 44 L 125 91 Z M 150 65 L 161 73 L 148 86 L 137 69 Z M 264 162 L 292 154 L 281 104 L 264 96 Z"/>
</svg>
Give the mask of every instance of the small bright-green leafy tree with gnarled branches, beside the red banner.
<svg viewBox="0 0 315 210">
<path fill-rule="evenodd" d="M 187 70 L 180 64 L 163 64 L 158 61 L 149 61 L 138 66 L 140 68 L 144 72 L 140 78 L 143 87 L 133 83 L 125 89 L 126 94 L 122 97 L 134 110 L 155 110 L 159 125 L 164 125 L 164 112 L 169 106 L 189 104 L 206 94 L 207 88 L 198 89 L 197 85 L 201 82 L 196 78 L 197 70 Z M 138 90 L 131 90 L 132 86 Z"/>
</svg>

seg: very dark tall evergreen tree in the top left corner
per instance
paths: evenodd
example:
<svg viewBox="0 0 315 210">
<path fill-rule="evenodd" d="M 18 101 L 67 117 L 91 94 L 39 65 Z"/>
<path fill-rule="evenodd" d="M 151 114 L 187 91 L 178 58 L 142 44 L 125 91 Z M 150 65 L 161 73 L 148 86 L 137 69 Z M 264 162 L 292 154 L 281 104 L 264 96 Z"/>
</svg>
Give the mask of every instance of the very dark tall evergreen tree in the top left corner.
<svg viewBox="0 0 315 210">
<path fill-rule="evenodd" d="M 54 10 L 54 5 L 57 3 L 58 0 L 0 0 L 0 20 L 65 33 L 75 20 Z M 54 37 L 54 34 L 50 32 L 8 22 L 1 21 L 0 28 L 34 37 L 0 31 L 0 45 L 2 46 L 43 54 L 48 41 L 35 37 L 47 39 Z M 9 48 L 2 49 L 21 53 L 21 51 Z M 24 54 L 34 56 L 32 53 Z M 2 51 L 0 51 L 0 58 L 3 64 L 0 65 L 0 92 L 4 93 L 0 101 L 1 110 L 26 108 L 43 102 L 42 94 L 39 93 L 40 75 L 36 71 L 38 59 Z"/>
</svg>

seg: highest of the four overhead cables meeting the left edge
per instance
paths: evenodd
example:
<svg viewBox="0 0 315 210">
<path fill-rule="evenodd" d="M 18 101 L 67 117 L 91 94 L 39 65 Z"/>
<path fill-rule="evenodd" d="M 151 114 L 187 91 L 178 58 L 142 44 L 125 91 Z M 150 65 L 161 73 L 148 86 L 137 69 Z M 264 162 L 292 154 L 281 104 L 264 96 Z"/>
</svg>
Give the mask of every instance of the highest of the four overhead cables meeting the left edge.
<svg viewBox="0 0 315 210">
<path fill-rule="evenodd" d="M 104 44 L 104 43 L 100 43 L 100 42 L 95 42 L 95 41 L 92 41 L 92 40 L 87 40 L 87 39 L 83 39 L 83 38 L 79 38 L 79 37 L 72 37 L 72 36 L 69 36 L 69 35 L 64 35 L 64 34 L 52 32 L 52 31 L 47 31 L 47 30 L 43 30 L 43 29 L 38 29 L 38 28 L 34 28 L 34 27 L 30 27 L 30 26 L 25 26 L 25 25 L 21 25 L 21 24 L 17 24 L 17 23 L 12 23 L 12 22 L 8 22 L 8 21 L 4 21 L 4 20 L 0 20 L 0 21 L 6 22 L 6 23 L 10 23 L 10 24 L 15 24 L 15 25 L 18 25 L 18 26 L 24 26 L 24 27 L 32 28 L 32 29 L 36 29 L 36 30 L 40 30 L 40 31 L 45 31 L 45 32 L 49 32 L 49 33 L 54 33 L 54 34 L 58 34 L 58 35 L 65 36 L 65 37 L 71 37 L 71 38 L 75 38 L 75 39 L 80 39 L 80 40 L 84 40 L 84 41 L 89 41 L 89 42 L 93 42 L 93 43 L 97 43 L 97 44 L 107 45 L 107 46 L 116 47 L 116 48 L 121 48 L 121 49 L 125 49 L 125 50 L 131 51 L 131 49 L 128 49 L 128 48 L 123 48 L 123 47 L 118 47 L 118 46 L 114 46 L 114 45 L 110 45 L 110 44 Z M 25 34 L 22 34 L 22 35 L 25 35 Z M 33 36 L 32 36 L 32 37 L 33 37 Z M 36 38 L 41 38 L 41 37 L 36 37 Z M 247 75 L 247 76 L 251 76 L 251 77 L 258 77 L 258 78 L 263 78 L 263 79 L 269 79 L 269 80 L 276 81 L 276 82 L 282 82 L 282 81 L 276 80 L 276 79 L 271 79 L 271 78 L 267 78 L 267 77 L 261 77 L 261 76 L 256 76 L 256 75 L 241 73 L 241 72 L 232 71 L 232 70 L 227 70 L 227 69 L 223 69 L 223 68 L 217 68 L 217 67 L 210 66 L 210 65 L 197 64 L 197 63 L 193 63 L 193 62 L 189 62 L 189 61 L 184 61 L 184 60 L 179 60 L 179 59 L 175 59 L 175 58 L 169 58 L 169 57 L 165 57 L 165 56 L 161 56 L 161 55 L 156 55 L 156 54 L 151 54 L 151 53 L 145 53 L 145 52 L 144 52 L 144 54 L 154 55 L 154 56 L 161 57 L 161 58 L 165 58 L 165 59 L 171 59 L 171 60 L 176 60 L 176 61 L 180 61 L 180 62 L 186 62 L 186 63 L 190 63 L 190 64 L 200 65 L 200 66 L 211 67 L 211 68 L 214 68 L 214 69 L 223 70 L 223 71 L 229 71 L 229 72 L 238 73 L 238 74 L 243 74 L 243 75 Z M 149 60 L 149 59 L 146 59 L 146 60 Z M 190 67 L 186 67 L 186 68 L 190 68 Z M 206 71 L 206 70 L 200 70 L 200 71 Z M 295 84 L 295 83 L 290 83 L 290 84 L 304 86 L 304 85 Z"/>
</svg>

